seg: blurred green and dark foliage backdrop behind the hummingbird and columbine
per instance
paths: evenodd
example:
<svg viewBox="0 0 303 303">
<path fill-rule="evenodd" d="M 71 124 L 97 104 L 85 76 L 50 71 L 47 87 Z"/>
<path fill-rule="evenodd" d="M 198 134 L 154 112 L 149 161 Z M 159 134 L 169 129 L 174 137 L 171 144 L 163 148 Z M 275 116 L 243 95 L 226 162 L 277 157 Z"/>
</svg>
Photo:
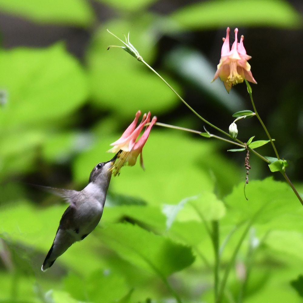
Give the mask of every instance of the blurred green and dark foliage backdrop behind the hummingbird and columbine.
<svg viewBox="0 0 303 303">
<path fill-rule="evenodd" d="M 246 201 L 244 155 L 156 126 L 146 171 L 123 168 L 96 230 L 40 271 L 66 204 L 28 183 L 82 189 L 138 109 L 203 130 L 142 64 L 106 51 L 117 43 L 106 28 L 130 31 L 145 61 L 227 130 L 250 109 L 245 85 L 228 95 L 210 84 L 227 26 L 245 35 L 259 113 L 302 189 L 300 1 L 0 0 L 0 302 L 213 302 L 214 224 L 221 280 L 231 266 L 224 302 L 302 301 L 303 210 L 278 173 L 251 157 Z M 266 139 L 256 119 L 238 129 Z"/>
</svg>

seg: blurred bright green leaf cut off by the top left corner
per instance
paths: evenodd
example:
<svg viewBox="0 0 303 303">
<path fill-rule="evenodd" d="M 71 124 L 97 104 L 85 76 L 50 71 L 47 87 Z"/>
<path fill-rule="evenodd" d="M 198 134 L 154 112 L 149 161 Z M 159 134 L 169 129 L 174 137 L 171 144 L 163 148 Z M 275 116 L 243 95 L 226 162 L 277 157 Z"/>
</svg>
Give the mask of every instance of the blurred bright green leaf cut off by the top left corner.
<svg viewBox="0 0 303 303">
<path fill-rule="evenodd" d="M 39 23 L 88 26 L 94 20 L 92 8 L 83 0 L 0 0 L 0 9 Z"/>
</svg>

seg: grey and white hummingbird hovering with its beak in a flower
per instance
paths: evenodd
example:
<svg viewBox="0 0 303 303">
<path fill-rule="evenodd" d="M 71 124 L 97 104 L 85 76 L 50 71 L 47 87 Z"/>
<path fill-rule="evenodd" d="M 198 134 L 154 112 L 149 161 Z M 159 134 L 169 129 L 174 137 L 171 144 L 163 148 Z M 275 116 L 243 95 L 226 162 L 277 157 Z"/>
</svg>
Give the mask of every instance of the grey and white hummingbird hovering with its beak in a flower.
<svg viewBox="0 0 303 303">
<path fill-rule="evenodd" d="M 112 177 L 111 167 L 119 151 L 111 160 L 98 163 L 92 170 L 88 185 L 81 191 L 44 187 L 63 197 L 69 206 L 63 213 L 53 244 L 41 270 L 46 271 L 73 243 L 83 240 L 98 225 Z"/>
</svg>

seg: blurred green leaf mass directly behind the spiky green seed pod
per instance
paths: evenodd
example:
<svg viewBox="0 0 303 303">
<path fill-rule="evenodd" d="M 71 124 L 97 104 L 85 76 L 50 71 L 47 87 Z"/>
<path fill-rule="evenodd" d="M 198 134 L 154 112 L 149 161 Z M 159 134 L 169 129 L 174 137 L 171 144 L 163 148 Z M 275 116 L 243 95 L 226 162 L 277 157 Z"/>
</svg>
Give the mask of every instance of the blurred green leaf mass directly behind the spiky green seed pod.
<svg viewBox="0 0 303 303">
<path fill-rule="evenodd" d="M 106 50 L 108 45 L 121 43 L 106 31 L 106 27 L 117 35 L 140 28 L 140 31 L 130 32 L 130 41 L 146 62 L 152 62 L 156 36 L 150 28 L 155 22 L 154 15 L 139 14 L 131 22 L 112 20 L 96 32 L 87 58 L 92 102 L 95 106 L 102 110 L 113 110 L 121 119 L 133 119 L 138 109 L 143 113 L 151 111 L 154 115 L 157 112 L 164 113 L 179 104 L 171 90 L 142 62 L 138 62 L 120 48 Z M 161 75 L 181 93 L 177 82 L 169 76 Z"/>
</svg>

